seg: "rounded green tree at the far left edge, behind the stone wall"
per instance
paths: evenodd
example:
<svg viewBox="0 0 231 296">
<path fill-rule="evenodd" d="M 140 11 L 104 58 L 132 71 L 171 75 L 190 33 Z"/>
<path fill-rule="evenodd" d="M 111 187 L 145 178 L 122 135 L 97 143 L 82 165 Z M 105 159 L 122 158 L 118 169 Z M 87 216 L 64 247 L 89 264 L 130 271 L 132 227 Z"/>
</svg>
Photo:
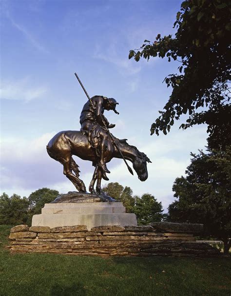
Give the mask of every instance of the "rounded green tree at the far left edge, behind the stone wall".
<svg viewBox="0 0 231 296">
<path fill-rule="evenodd" d="M 19 225 L 26 224 L 29 201 L 17 194 L 9 197 L 6 193 L 0 196 L 0 224 Z"/>
</svg>

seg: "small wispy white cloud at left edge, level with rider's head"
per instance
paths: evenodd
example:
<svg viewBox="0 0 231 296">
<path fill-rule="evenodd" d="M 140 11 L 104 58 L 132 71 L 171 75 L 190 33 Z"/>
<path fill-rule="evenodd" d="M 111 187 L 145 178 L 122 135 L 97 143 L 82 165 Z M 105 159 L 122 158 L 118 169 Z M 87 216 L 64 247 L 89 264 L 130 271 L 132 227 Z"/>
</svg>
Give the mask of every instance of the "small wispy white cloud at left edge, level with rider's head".
<svg viewBox="0 0 231 296">
<path fill-rule="evenodd" d="M 29 86 L 29 78 L 14 82 L 1 82 L 0 98 L 7 100 L 21 100 L 29 102 L 34 99 L 41 98 L 47 92 L 45 86 Z"/>
</svg>

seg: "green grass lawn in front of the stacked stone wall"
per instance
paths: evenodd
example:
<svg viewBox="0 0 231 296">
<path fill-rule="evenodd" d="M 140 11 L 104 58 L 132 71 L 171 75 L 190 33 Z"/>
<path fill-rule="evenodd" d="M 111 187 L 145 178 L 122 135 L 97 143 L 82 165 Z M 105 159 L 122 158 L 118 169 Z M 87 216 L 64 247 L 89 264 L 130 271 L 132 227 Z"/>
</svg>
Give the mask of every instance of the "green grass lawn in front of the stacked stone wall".
<svg viewBox="0 0 231 296">
<path fill-rule="evenodd" d="M 231 295 L 230 258 L 10 254 L 0 225 L 0 296 Z"/>
</svg>

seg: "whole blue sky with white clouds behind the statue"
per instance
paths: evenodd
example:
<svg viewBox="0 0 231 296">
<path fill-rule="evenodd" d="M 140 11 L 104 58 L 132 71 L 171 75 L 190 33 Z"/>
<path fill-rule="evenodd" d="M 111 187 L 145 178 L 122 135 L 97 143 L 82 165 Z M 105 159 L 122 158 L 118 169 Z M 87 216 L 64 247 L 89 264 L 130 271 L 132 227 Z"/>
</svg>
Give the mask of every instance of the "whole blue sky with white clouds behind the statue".
<svg viewBox="0 0 231 296">
<path fill-rule="evenodd" d="M 0 194 L 29 196 L 47 187 L 76 190 L 62 166 L 46 152 L 61 130 L 79 130 L 87 98 L 103 95 L 119 102 L 116 115 L 105 111 L 111 130 L 147 154 L 149 178 L 132 176 L 122 160 L 108 165 L 109 182 L 151 193 L 166 210 L 172 186 L 185 174 L 190 152 L 206 145 L 206 126 L 151 136 L 150 127 L 171 94 L 164 78 L 179 63 L 167 59 L 128 59 L 145 39 L 174 34 L 181 0 L 1 0 L 0 20 Z M 205 148 L 204 148 L 205 149 Z M 75 158 L 88 188 L 94 168 Z M 108 182 L 103 182 L 106 184 Z"/>
</svg>

